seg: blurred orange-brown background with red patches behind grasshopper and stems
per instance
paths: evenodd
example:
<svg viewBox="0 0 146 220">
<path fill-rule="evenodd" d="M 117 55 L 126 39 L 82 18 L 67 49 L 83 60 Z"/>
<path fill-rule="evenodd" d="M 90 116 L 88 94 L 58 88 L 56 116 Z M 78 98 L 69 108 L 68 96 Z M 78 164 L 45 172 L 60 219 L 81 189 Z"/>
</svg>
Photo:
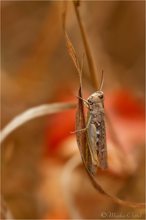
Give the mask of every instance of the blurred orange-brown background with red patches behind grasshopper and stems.
<svg viewBox="0 0 146 220">
<path fill-rule="evenodd" d="M 72 3 L 67 30 L 81 60 L 84 47 Z M 28 108 L 75 101 L 76 69 L 62 30 L 63 1 L 1 1 L 1 129 Z M 109 169 L 101 185 L 118 197 L 144 202 L 145 1 L 81 1 L 80 13 L 100 79 L 104 70 Z M 87 62 L 83 93 L 92 88 Z M 66 163 L 79 155 L 75 110 L 41 117 L 13 132 L 2 144 L 1 193 L 15 219 L 105 218 L 106 210 L 131 219 L 139 210 L 119 207 L 97 193 L 82 167 L 73 171 L 64 196 Z M 65 181 L 65 180 L 64 180 Z M 100 205 L 99 205 L 100 204 Z M 107 216 L 106 216 L 107 217 Z M 129 216 L 128 216 L 129 217 Z"/>
</svg>

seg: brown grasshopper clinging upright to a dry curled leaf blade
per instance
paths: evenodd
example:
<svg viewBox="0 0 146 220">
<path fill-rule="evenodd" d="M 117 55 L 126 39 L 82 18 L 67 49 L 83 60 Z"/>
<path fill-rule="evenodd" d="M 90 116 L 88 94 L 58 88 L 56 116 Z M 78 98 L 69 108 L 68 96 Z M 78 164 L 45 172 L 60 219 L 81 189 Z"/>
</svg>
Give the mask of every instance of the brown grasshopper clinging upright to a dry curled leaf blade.
<svg viewBox="0 0 146 220">
<path fill-rule="evenodd" d="M 95 167 L 106 169 L 107 164 L 107 146 L 106 131 L 104 120 L 104 93 L 101 91 L 103 85 L 103 74 L 100 89 L 91 94 L 87 100 L 83 100 L 88 108 L 86 128 L 75 132 L 87 132 L 88 147 L 90 150 L 92 164 Z"/>
</svg>

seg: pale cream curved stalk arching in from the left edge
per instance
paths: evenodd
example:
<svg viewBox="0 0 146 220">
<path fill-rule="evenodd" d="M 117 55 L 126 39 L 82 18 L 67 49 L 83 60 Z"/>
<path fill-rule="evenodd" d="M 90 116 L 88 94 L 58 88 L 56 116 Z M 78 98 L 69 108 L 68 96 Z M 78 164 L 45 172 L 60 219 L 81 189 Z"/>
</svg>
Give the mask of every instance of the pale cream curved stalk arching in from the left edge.
<svg viewBox="0 0 146 220">
<path fill-rule="evenodd" d="M 25 112 L 21 113 L 20 115 L 16 116 L 14 119 L 12 119 L 12 121 L 10 121 L 8 125 L 6 125 L 0 131 L 0 143 L 2 143 L 6 139 L 6 137 L 10 135 L 10 133 L 12 133 L 18 127 L 34 118 L 38 118 L 48 114 L 54 114 L 75 107 L 75 103 L 52 103 L 30 108 Z"/>
</svg>

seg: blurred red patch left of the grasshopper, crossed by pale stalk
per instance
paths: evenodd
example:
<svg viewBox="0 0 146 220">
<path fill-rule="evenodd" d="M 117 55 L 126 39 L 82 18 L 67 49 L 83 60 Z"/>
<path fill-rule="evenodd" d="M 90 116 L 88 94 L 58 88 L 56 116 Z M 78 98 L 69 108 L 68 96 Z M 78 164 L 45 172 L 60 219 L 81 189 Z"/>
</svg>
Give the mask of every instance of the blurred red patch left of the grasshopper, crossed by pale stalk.
<svg viewBox="0 0 146 220">
<path fill-rule="evenodd" d="M 77 98 L 69 90 L 59 91 L 57 94 L 59 95 L 55 97 L 55 102 L 77 102 Z M 49 154 L 55 152 L 59 144 L 75 130 L 75 114 L 76 109 L 70 109 L 49 116 L 45 132 Z"/>
</svg>

